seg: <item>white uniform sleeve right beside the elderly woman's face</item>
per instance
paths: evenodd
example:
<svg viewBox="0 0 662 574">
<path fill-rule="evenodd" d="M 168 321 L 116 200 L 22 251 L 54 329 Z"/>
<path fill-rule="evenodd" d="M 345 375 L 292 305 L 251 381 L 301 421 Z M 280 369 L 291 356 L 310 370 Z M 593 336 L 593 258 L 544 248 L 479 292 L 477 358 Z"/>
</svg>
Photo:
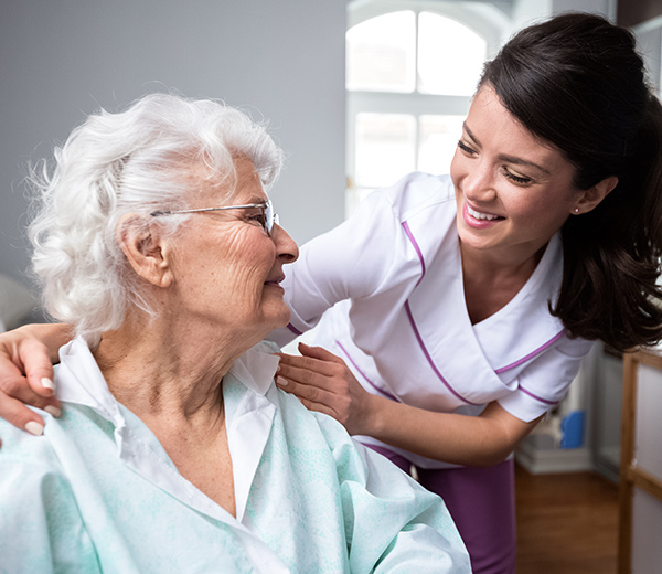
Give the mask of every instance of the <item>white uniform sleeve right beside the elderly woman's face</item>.
<svg viewBox="0 0 662 574">
<path fill-rule="evenodd" d="M 299 259 L 285 269 L 290 325 L 269 339 L 284 346 L 312 329 L 337 302 L 374 293 L 394 264 L 399 234 L 387 194 L 375 191 L 352 217 L 303 245 Z"/>
</svg>

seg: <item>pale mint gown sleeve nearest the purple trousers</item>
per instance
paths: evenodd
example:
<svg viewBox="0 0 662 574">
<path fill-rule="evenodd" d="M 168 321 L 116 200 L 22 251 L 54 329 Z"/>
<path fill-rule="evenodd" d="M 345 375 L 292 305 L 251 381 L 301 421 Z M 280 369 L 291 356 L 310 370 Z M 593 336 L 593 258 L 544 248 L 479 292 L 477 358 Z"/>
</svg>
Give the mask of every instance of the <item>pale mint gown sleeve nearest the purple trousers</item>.
<svg viewBox="0 0 662 574">
<path fill-rule="evenodd" d="M 317 415 L 337 461 L 353 573 L 470 573 L 444 501 L 325 415 Z"/>
</svg>

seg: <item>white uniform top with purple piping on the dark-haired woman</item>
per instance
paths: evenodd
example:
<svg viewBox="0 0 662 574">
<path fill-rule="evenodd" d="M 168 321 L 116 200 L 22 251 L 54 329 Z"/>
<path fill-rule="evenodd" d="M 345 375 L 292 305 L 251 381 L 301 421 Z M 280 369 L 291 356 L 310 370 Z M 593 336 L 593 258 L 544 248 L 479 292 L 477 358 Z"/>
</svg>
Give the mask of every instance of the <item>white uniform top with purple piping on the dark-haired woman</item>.
<svg viewBox="0 0 662 574">
<path fill-rule="evenodd" d="M 520 293 L 471 325 L 448 176 L 412 173 L 372 193 L 343 224 L 301 248 L 287 272 L 282 344 L 314 327 L 363 386 L 428 411 L 478 415 L 498 401 L 533 421 L 566 394 L 591 342 L 549 313 L 562 279 L 554 236 Z M 361 437 L 363 442 L 380 442 Z M 424 468 L 449 465 L 388 447 Z"/>
</svg>

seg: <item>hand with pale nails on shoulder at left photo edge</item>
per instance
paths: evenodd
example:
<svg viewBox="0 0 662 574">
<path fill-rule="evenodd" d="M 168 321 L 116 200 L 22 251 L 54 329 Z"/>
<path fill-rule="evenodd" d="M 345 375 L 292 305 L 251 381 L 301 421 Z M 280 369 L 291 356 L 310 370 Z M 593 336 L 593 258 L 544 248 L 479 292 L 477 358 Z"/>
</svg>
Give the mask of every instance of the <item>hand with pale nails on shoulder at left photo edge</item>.
<svg viewBox="0 0 662 574">
<path fill-rule="evenodd" d="M 1 418 L 40 435 L 44 421 L 25 404 L 60 415 L 51 363 L 67 338 L 68 328 L 61 325 L 30 325 L 0 334 Z"/>
</svg>

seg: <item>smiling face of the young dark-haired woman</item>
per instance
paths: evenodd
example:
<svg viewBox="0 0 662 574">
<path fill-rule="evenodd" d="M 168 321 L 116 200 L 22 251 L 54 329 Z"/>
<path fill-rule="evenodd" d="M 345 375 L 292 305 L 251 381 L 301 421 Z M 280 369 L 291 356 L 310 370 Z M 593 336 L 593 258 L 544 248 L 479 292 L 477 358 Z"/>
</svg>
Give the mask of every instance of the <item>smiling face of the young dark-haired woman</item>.
<svg viewBox="0 0 662 574">
<path fill-rule="evenodd" d="M 476 95 L 450 173 L 462 253 L 524 262 L 573 211 L 574 166 L 533 136 L 488 84 Z"/>
</svg>

